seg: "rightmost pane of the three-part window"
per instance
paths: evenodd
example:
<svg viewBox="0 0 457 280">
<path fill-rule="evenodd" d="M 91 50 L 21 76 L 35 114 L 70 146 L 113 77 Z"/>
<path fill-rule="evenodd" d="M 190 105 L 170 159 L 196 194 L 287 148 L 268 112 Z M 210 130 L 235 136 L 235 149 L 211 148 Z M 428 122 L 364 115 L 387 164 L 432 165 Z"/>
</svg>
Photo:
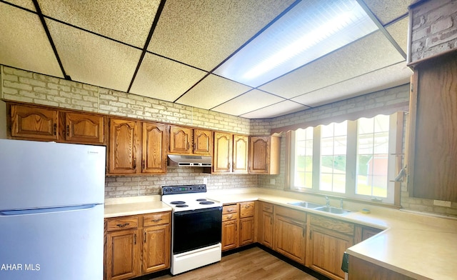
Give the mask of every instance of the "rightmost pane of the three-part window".
<svg viewBox="0 0 457 280">
<path fill-rule="evenodd" d="M 387 197 L 389 117 L 359 119 L 357 125 L 356 194 Z"/>
</svg>

